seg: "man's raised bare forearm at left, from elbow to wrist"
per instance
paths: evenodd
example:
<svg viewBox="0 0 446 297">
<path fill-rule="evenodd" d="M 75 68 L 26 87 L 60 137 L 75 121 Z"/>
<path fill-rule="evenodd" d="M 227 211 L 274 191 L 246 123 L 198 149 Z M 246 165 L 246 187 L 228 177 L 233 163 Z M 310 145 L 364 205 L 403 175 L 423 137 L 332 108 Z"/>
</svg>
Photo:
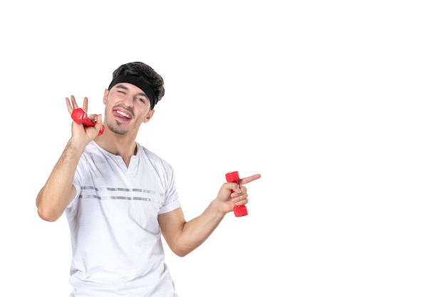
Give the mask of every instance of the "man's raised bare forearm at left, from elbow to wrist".
<svg viewBox="0 0 446 297">
<path fill-rule="evenodd" d="M 42 219 L 56 221 L 73 199 L 73 179 L 82 152 L 83 147 L 68 141 L 46 184 L 37 195 L 36 206 Z"/>
</svg>

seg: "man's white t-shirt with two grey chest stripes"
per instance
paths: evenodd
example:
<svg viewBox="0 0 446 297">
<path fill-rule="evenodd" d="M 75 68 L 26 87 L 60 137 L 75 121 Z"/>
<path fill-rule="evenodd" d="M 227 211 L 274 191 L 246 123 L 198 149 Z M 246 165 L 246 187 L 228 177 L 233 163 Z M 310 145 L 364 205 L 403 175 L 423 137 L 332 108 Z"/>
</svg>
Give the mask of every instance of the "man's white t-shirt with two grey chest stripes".
<svg viewBox="0 0 446 297">
<path fill-rule="evenodd" d="M 127 167 L 94 141 L 74 177 L 66 209 L 73 261 L 71 297 L 175 297 L 158 214 L 180 207 L 172 167 L 137 143 Z"/>
</svg>

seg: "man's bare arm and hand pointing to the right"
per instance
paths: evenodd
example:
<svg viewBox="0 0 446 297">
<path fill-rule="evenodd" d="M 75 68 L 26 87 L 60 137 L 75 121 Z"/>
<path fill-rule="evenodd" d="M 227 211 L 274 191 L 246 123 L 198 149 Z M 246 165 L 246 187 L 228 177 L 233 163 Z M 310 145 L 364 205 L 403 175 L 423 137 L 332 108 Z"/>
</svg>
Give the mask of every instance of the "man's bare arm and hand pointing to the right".
<svg viewBox="0 0 446 297">
<path fill-rule="evenodd" d="M 170 249 L 177 256 L 186 256 L 194 249 L 197 249 L 217 228 L 228 212 L 234 210 L 235 205 L 248 203 L 247 188 L 242 184 L 247 184 L 255 179 L 259 179 L 260 174 L 240 179 L 239 185 L 234 182 L 227 182 L 220 188 L 217 198 L 207 207 L 199 217 L 186 222 L 182 209 L 175 209 L 166 214 L 158 216 L 158 222 Z M 234 191 L 232 193 L 232 191 Z"/>
</svg>

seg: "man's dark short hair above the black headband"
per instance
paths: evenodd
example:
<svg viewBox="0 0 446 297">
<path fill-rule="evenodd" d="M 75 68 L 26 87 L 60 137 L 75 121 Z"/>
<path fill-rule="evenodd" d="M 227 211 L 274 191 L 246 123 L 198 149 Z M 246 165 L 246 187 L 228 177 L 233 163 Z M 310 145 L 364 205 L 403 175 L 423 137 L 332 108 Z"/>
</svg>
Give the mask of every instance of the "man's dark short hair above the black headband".
<svg viewBox="0 0 446 297">
<path fill-rule="evenodd" d="M 152 67 L 142 62 L 125 63 L 113 71 L 113 79 L 120 75 L 128 75 L 145 80 L 152 88 L 155 95 L 155 104 L 157 104 L 165 94 L 164 80 Z M 154 105 L 155 105 L 154 104 Z M 154 106 L 151 106 L 154 108 Z"/>
</svg>

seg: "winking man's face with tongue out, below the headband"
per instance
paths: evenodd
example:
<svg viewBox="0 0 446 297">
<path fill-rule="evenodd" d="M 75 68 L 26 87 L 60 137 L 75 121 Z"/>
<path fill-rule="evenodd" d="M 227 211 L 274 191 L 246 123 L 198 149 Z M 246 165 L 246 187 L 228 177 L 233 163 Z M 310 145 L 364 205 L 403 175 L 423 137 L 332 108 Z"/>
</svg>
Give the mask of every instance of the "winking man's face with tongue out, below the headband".
<svg viewBox="0 0 446 297">
<path fill-rule="evenodd" d="M 147 95 L 131 83 L 117 83 L 111 90 L 105 90 L 103 103 L 105 125 L 119 135 L 137 133 L 154 113 Z"/>
</svg>

